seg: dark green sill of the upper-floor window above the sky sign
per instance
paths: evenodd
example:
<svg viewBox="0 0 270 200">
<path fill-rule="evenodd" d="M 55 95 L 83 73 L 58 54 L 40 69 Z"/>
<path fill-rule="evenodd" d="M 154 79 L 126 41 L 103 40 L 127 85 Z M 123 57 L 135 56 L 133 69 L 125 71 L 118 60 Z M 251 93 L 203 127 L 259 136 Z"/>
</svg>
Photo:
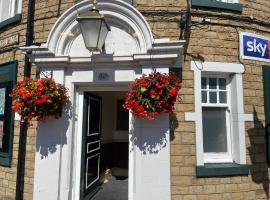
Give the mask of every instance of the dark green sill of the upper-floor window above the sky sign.
<svg viewBox="0 0 270 200">
<path fill-rule="evenodd" d="M 216 8 L 235 12 L 242 12 L 243 6 L 240 3 L 225 3 L 216 0 L 192 0 L 192 7 Z"/>
</svg>

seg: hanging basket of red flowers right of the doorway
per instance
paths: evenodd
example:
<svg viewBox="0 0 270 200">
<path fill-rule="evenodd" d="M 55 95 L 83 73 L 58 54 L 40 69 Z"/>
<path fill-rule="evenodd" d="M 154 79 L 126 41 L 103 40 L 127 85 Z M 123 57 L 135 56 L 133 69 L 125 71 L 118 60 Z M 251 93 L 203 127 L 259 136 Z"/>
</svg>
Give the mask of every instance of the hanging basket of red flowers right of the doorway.
<svg viewBox="0 0 270 200">
<path fill-rule="evenodd" d="M 148 120 L 174 110 L 182 81 L 173 73 L 152 72 L 131 83 L 123 107 L 133 115 Z"/>
</svg>

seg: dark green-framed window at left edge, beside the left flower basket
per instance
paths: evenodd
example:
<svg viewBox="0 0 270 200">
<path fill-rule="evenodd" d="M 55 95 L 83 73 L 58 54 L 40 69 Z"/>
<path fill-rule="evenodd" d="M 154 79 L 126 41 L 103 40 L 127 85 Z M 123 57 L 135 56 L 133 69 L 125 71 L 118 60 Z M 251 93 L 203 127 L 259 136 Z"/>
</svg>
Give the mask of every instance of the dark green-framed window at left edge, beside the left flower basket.
<svg viewBox="0 0 270 200">
<path fill-rule="evenodd" d="M 16 82 L 17 62 L 0 64 L 0 165 L 10 166 L 12 156 L 13 121 L 11 93 Z"/>
</svg>

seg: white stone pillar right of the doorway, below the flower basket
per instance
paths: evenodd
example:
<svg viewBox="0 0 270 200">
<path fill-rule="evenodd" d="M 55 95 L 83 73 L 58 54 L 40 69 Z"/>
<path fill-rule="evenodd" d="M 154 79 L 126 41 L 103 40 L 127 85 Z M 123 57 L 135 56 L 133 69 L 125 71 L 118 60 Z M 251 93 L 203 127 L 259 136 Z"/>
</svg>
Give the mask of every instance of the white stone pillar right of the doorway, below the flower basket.
<svg viewBox="0 0 270 200">
<path fill-rule="evenodd" d="M 170 200 L 169 114 L 131 120 L 129 156 L 129 200 Z"/>
</svg>

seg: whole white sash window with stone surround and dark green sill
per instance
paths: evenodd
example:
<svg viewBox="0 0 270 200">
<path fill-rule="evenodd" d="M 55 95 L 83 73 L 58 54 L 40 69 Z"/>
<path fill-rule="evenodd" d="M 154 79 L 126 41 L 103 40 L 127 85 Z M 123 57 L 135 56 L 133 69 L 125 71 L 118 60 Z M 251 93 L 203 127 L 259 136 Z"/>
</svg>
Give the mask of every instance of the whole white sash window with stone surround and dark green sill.
<svg viewBox="0 0 270 200">
<path fill-rule="evenodd" d="M 246 165 L 242 73 L 236 63 L 192 62 L 195 112 L 185 113 L 195 121 L 197 176 L 240 175 Z"/>
</svg>

